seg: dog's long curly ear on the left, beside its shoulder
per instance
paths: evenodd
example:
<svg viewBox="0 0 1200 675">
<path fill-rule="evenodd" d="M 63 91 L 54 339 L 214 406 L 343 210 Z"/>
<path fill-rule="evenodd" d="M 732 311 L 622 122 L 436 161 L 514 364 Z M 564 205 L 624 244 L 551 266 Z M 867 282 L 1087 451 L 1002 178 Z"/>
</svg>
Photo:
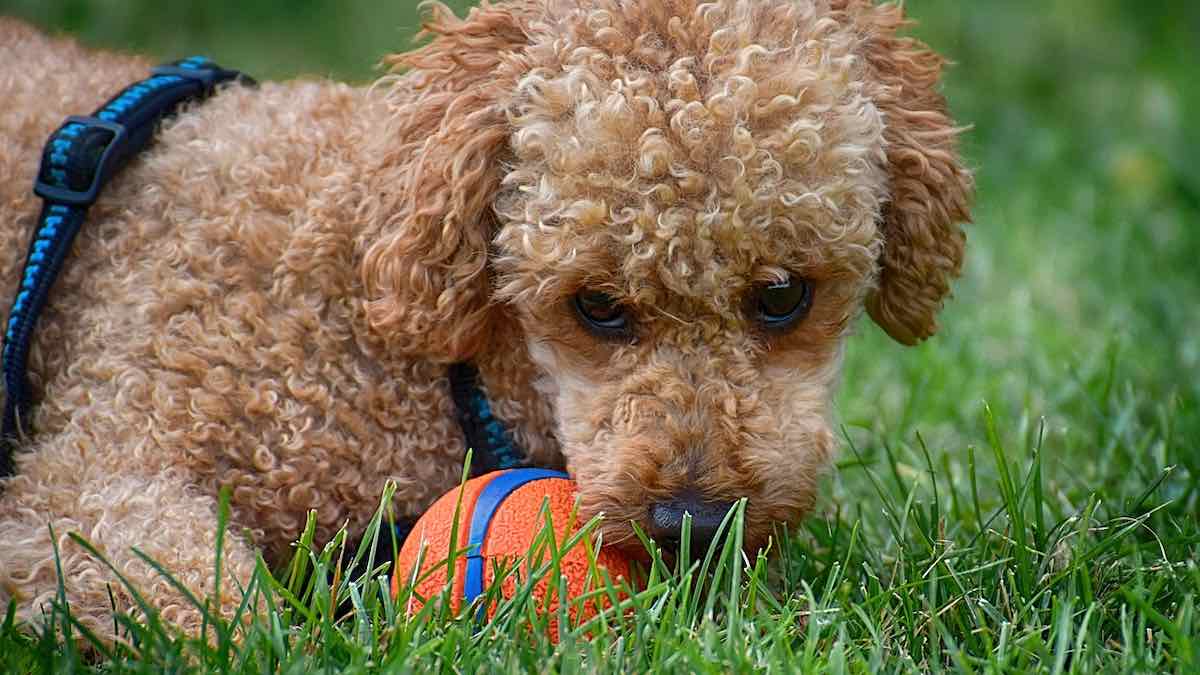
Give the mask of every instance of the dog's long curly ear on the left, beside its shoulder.
<svg viewBox="0 0 1200 675">
<path fill-rule="evenodd" d="M 385 60 L 389 127 L 374 181 L 385 195 L 362 256 L 367 321 L 389 345 L 439 362 L 469 358 L 494 310 L 487 249 L 508 129 L 502 101 L 528 4 L 486 1 L 457 18 L 427 5 L 432 40 Z"/>
</svg>

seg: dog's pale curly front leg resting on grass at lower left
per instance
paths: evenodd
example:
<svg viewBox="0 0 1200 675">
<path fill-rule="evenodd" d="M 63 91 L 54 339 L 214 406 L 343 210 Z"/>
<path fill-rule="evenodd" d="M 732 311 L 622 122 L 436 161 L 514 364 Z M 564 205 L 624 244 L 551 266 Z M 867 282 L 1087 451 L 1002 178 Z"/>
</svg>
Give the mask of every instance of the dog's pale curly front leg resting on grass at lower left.
<svg viewBox="0 0 1200 675">
<path fill-rule="evenodd" d="M 14 598 L 22 619 L 34 625 L 44 621 L 58 591 L 56 543 L 71 613 L 102 639 L 116 638 L 113 599 L 119 611 L 133 611 L 137 604 L 108 566 L 71 539 L 70 533 L 77 532 L 166 622 L 198 634 L 200 610 L 133 548 L 162 565 L 202 602 L 211 601 L 216 496 L 199 491 L 179 468 L 131 471 L 128 454 L 113 448 L 89 453 L 62 446 L 54 447 L 52 440 L 26 455 L 0 496 L 0 607 Z M 223 550 L 220 597 L 212 605 L 228 617 L 241 601 L 239 589 L 251 579 L 254 554 L 234 527 Z"/>
</svg>

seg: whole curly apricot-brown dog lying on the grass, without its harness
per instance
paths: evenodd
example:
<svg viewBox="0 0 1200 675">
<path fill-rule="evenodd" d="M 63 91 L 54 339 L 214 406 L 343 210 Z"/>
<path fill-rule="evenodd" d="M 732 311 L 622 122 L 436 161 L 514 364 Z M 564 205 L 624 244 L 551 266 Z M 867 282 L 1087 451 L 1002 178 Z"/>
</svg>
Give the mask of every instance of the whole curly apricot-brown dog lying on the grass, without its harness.
<svg viewBox="0 0 1200 675">
<path fill-rule="evenodd" d="M 131 546 L 211 592 L 220 489 L 227 613 L 310 509 L 361 531 L 390 479 L 420 513 L 460 479 L 460 362 L 606 540 L 746 497 L 763 544 L 814 503 L 862 307 L 918 342 L 960 269 L 972 181 L 904 23 L 871 0 L 432 5 L 371 88 L 232 85 L 176 115 L 41 319 L 0 607 L 37 621 L 54 596 L 49 526 L 112 637 L 113 578 L 68 532 L 194 628 Z M 0 22 L 0 298 L 47 136 L 149 65 Z"/>
</svg>

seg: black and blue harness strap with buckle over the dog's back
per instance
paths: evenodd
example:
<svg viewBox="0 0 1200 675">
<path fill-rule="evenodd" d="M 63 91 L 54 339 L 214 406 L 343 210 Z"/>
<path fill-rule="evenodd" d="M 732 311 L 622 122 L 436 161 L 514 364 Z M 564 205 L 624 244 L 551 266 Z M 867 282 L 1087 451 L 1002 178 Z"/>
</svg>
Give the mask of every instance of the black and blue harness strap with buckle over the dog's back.
<svg viewBox="0 0 1200 675">
<path fill-rule="evenodd" d="M 0 423 L 0 478 L 14 471 L 13 452 L 29 430 L 32 408 L 29 348 L 37 318 L 62 262 L 71 251 L 100 191 L 154 136 L 158 123 L 184 102 L 209 97 L 218 84 L 254 80 L 203 56 L 151 70 L 151 77 L 125 88 L 90 117 L 72 115 L 50 136 L 42 151 L 34 192 L 43 199 L 20 287 L 5 325 L 5 402 Z"/>
</svg>

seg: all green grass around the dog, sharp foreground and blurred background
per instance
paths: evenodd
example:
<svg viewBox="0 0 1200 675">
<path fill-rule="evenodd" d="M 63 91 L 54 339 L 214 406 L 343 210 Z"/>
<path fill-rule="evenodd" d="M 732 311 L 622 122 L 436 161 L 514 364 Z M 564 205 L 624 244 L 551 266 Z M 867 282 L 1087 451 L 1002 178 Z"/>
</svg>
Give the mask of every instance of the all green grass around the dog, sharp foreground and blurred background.
<svg viewBox="0 0 1200 675">
<path fill-rule="evenodd" d="M 100 46 L 356 80 L 415 25 L 403 1 L 192 5 L 0 11 Z M 967 265 L 934 340 L 902 350 L 865 322 L 851 340 L 846 449 L 769 558 L 718 551 L 708 584 L 658 565 L 628 614 L 554 645 L 520 598 L 479 626 L 436 605 L 397 616 L 383 577 L 307 583 L 337 551 L 302 544 L 295 573 L 260 569 L 266 619 L 238 641 L 220 622 L 214 647 L 119 617 L 137 646 L 88 662 L 59 613 L 43 635 L 5 623 L 0 671 L 1200 671 L 1200 7 L 908 8 L 956 61 L 947 94 L 974 125 Z"/>
</svg>

